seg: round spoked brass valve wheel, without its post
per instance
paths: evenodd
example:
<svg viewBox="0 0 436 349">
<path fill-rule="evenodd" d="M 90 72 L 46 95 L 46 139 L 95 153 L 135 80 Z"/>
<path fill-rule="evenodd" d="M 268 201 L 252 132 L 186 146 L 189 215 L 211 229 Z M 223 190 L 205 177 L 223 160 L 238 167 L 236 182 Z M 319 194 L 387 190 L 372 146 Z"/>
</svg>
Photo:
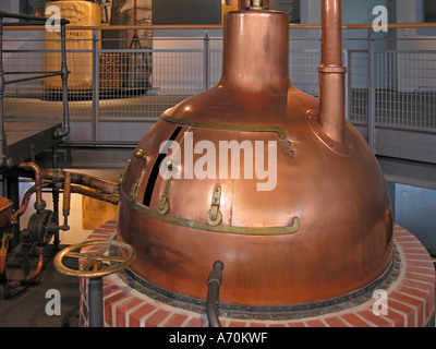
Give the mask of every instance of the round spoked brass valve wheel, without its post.
<svg viewBox="0 0 436 349">
<path fill-rule="evenodd" d="M 92 252 L 80 251 L 88 246 L 98 246 L 99 250 L 95 251 L 93 249 Z M 113 246 L 124 250 L 126 256 L 107 255 L 106 252 Z M 85 260 L 85 262 L 78 266 L 78 269 L 72 269 L 63 264 L 65 257 L 81 258 Z M 97 278 L 125 269 L 132 264 L 135 257 L 135 249 L 125 242 L 118 240 L 89 240 L 63 249 L 56 255 L 53 263 L 56 269 L 61 274 L 74 277 Z M 110 262 L 111 265 L 104 265 L 102 262 Z"/>
</svg>

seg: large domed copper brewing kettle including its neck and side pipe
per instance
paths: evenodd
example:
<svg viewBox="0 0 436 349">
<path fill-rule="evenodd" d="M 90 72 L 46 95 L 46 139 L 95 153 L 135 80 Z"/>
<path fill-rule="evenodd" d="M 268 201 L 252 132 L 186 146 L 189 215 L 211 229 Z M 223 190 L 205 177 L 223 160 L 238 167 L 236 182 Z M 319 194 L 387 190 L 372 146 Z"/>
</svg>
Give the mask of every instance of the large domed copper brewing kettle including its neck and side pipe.
<svg viewBox="0 0 436 349">
<path fill-rule="evenodd" d="M 340 1 L 323 0 L 323 31 L 318 100 L 289 80 L 288 14 L 227 14 L 219 84 L 167 110 L 120 179 L 118 239 L 136 249 L 133 273 L 205 299 L 210 266 L 220 260 L 222 303 L 283 305 L 351 293 L 388 268 L 387 186 L 343 116 Z M 179 158 L 172 146 L 159 153 L 171 141 Z M 205 147 L 191 152 L 201 141 Z M 242 149 L 218 164 L 220 146 L 231 141 L 261 149 L 263 164 L 250 168 L 246 159 L 259 158 Z M 204 161 L 211 145 L 215 177 Z M 243 176 L 274 168 L 275 159 L 276 176 Z M 160 166 L 174 176 L 160 176 Z"/>
</svg>

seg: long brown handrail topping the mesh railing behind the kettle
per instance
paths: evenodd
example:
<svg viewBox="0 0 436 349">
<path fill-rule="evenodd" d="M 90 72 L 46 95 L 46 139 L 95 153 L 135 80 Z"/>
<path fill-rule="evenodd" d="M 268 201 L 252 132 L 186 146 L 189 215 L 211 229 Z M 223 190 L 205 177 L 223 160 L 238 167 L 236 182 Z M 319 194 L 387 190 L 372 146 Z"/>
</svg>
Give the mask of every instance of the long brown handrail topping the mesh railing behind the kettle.
<svg viewBox="0 0 436 349">
<path fill-rule="evenodd" d="M 436 23 L 389 23 L 388 29 L 436 28 Z M 152 24 L 152 25 L 69 25 L 70 31 L 131 31 L 131 29 L 222 29 L 221 24 Z M 320 29 L 320 24 L 290 24 L 290 29 Z M 343 24 L 342 29 L 372 29 L 372 24 Z M 4 26 L 4 31 L 39 31 L 39 26 Z"/>
</svg>

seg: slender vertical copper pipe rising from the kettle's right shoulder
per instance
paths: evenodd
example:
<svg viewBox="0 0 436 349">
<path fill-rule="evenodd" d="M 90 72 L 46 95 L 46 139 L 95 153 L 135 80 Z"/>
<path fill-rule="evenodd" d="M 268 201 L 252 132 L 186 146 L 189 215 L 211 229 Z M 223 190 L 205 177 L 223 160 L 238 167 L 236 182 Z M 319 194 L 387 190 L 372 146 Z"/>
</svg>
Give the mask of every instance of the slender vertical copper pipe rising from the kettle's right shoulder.
<svg viewBox="0 0 436 349">
<path fill-rule="evenodd" d="M 319 72 L 319 120 L 336 142 L 343 142 L 346 125 L 344 74 L 342 67 L 341 0 L 323 0 L 323 62 Z"/>
</svg>

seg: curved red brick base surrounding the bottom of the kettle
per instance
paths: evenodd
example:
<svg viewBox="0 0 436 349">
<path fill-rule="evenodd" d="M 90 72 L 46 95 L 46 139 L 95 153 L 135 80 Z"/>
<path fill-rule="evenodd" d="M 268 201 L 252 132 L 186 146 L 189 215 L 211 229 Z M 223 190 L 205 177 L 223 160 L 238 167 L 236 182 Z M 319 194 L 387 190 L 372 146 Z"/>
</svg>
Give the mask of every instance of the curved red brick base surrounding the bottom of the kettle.
<svg viewBox="0 0 436 349">
<path fill-rule="evenodd" d="M 88 240 L 110 239 L 117 221 L 109 220 Z M 435 268 L 432 257 L 409 231 L 396 225 L 393 239 L 401 255 L 401 273 L 387 290 L 388 313 L 375 315 L 376 299 L 344 311 L 294 321 L 220 318 L 222 327 L 424 327 L 435 324 Z M 80 324 L 87 327 L 87 279 L 81 280 Z M 206 327 L 206 314 L 157 302 L 125 285 L 117 275 L 104 278 L 107 327 Z"/>
</svg>

